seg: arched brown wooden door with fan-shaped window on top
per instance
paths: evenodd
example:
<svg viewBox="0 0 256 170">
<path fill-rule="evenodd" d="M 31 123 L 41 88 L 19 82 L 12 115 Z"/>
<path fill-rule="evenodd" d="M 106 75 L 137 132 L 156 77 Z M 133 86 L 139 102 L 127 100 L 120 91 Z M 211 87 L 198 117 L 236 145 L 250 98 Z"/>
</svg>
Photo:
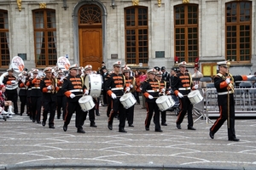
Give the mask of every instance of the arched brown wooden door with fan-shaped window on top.
<svg viewBox="0 0 256 170">
<path fill-rule="evenodd" d="M 96 5 L 79 9 L 79 61 L 94 71 L 102 65 L 102 11 Z"/>
</svg>

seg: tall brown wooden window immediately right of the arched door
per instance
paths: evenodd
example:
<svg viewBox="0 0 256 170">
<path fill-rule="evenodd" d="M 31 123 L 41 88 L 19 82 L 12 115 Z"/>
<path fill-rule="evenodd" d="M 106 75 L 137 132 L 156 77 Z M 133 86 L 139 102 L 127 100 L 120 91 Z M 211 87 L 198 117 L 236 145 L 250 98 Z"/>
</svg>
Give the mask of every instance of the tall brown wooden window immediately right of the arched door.
<svg viewBox="0 0 256 170">
<path fill-rule="evenodd" d="M 125 62 L 148 65 L 148 8 L 125 8 Z"/>
</svg>

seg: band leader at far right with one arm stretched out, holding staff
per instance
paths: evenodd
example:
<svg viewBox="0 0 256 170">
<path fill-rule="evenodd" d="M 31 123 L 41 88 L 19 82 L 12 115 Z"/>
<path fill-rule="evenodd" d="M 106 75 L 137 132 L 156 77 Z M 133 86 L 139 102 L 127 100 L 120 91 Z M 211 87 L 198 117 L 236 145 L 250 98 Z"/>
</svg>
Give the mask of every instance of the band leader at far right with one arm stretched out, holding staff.
<svg viewBox="0 0 256 170">
<path fill-rule="evenodd" d="M 218 93 L 219 117 L 210 128 L 210 137 L 214 139 L 214 134 L 227 120 L 228 139 L 230 141 L 239 141 L 235 132 L 235 99 L 234 99 L 234 82 L 247 81 L 249 76 L 232 76 L 229 73 L 227 61 L 218 62 L 218 74 L 214 77 L 214 86 Z"/>
</svg>

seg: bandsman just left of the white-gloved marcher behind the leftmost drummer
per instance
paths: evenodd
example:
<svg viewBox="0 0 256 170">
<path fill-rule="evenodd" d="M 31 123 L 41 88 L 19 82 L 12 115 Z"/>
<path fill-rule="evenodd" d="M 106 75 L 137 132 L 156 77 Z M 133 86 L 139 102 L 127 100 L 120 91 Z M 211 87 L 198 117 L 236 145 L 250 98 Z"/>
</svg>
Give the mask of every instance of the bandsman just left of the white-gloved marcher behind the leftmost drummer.
<svg viewBox="0 0 256 170">
<path fill-rule="evenodd" d="M 32 122 L 37 120 L 41 123 L 41 107 L 42 107 L 42 92 L 40 90 L 41 77 L 38 76 L 38 69 L 33 69 L 32 80 L 27 83 L 28 86 L 31 85 L 32 90 L 30 93 L 31 104 L 32 104 Z"/>
</svg>

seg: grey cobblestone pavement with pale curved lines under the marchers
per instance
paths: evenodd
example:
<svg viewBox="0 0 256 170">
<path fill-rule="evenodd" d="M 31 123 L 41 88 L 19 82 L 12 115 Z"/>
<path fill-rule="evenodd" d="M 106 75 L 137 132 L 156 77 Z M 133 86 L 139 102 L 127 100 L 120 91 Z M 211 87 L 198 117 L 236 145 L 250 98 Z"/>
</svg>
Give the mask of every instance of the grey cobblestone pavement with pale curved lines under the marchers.
<svg viewBox="0 0 256 170">
<path fill-rule="evenodd" d="M 163 133 L 146 131 L 146 110 L 136 105 L 135 127 L 119 133 L 119 121 L 108 130 L 107 107 L 100 107 L 96 125 L 84 122 L 86 133 L 76 133 L 74 116 L 67 132 L 55 118 L 55 129 L 32 122 L 28 116 L 0 120 L 0 169 L 256 169 L 255 119 L 237 119 L 239 142 L 227 139 L 227 125 L 209 138 L 212 122 L 195 122 L 196 131 L 176 128 L 173 112 L 167 112 Z M 196 118 L 196 116 L 194 117 Z M 215 121 L 215 120 L 213 120 Z"/>
</svg>

